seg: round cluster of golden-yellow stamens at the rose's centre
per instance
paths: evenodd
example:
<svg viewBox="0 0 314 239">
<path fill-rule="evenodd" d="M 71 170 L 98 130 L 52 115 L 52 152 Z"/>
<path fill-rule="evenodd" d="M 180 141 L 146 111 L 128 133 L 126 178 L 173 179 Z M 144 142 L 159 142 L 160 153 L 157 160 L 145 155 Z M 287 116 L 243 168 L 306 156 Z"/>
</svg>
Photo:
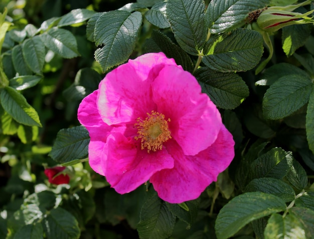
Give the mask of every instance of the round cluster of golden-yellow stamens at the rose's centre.
<svg viewBox="0 0 314 239">
<path fill-rule="evenodd" d="M 134 124 L 137 127 L 138 136 L 134 138 L 135 140 L 140 138 L 141 149 L 146 147 L 147 152 L 162 149 L 163 142 L 172 138 L 168 122 L 170 122 L 170 118 L 166 120 L 164 114 L 153 110 L 151 113 L 147 113 L 147 117 L 144 120 L 138 117 L 137 123 Z"/>
</svg>

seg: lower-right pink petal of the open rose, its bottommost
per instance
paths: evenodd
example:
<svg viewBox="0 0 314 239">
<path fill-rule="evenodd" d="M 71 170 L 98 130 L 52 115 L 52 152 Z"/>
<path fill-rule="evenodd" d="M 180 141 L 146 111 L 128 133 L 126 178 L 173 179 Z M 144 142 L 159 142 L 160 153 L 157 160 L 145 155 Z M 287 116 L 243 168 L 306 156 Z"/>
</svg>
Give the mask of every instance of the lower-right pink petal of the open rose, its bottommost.
<svg viewBox="0 0 314 239">
<path fill-rule="evenodd" d="M 168 152 L 175 158 L 172 169 L 164 169 L 150 177 L 158 195 L 170 203 L 181 203 L 200 196 L 205 188 L 217 180 L 234 157 L 232 134 L 223 125 L 217 140 L 195 156 L 184 155 L 175 141 L 166 143 Z"/>
</svg>

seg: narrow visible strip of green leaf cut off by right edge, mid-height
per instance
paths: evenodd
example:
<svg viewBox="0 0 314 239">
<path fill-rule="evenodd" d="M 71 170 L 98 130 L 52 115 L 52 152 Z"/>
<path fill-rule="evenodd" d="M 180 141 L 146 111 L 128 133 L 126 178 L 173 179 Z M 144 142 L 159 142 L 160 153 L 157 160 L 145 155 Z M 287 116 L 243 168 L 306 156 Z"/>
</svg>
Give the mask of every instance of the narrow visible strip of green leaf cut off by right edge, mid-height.
<svg viewBox="0 0 314 239">
<path fill-rule="evenodd" d="M 314 153 L 314 86 L 309 95 L 307 104 L 305 128 L 306 128 L 306 139 L 308 142 L 309 149 Z"/>
</svg>

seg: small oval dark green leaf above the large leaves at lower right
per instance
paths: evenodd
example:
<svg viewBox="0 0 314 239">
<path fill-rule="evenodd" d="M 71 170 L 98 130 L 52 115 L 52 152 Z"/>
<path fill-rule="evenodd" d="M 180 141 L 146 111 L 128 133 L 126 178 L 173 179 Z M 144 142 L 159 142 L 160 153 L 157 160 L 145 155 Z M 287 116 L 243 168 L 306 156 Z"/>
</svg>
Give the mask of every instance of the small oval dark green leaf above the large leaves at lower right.
<svg viewBox="0 0 314 239">
<path fill-rule="evenodd" d="M 298 190 L 305 188 L 307 185 L 306 171 L 295 159 L 292 160 L 292 164 L 290 165 L 290 170 L 286 175 L 286 179 Z"/>
</svg>

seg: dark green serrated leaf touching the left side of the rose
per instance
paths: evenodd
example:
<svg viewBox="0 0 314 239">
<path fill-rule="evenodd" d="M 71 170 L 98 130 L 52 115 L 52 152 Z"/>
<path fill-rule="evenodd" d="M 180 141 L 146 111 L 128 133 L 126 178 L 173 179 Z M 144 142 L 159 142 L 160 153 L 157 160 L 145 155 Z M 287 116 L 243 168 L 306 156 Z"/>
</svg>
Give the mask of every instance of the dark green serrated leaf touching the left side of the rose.
<svg viewBox="0 0 314 239">
<path fill-rule="evenodd" d="M 60 163 L 84 158 L 88 154 L 89 140 L 88 131 L 83 126 L 61 129 L 49 156 Z"/>
</svg>

